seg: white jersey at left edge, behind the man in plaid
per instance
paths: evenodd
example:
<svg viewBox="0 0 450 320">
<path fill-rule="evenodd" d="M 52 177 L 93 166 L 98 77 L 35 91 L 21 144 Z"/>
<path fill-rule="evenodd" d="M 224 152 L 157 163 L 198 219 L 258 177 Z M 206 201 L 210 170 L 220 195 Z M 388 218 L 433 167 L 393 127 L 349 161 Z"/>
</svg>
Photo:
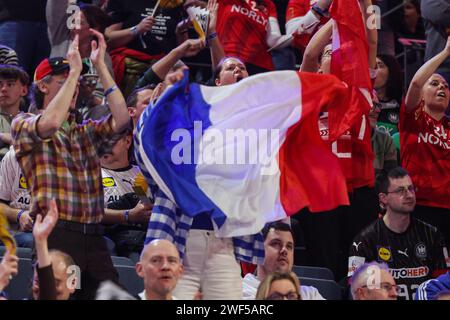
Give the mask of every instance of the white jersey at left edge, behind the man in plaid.
<svg viewBox="0 0 450 320">
<path fill-rule="evenodd" d="M 10 207 L 14 209 L 30 209 L 30 192 L 12 147 L 0 166 L 0 199 L 9 201 Z"/>
</svg>

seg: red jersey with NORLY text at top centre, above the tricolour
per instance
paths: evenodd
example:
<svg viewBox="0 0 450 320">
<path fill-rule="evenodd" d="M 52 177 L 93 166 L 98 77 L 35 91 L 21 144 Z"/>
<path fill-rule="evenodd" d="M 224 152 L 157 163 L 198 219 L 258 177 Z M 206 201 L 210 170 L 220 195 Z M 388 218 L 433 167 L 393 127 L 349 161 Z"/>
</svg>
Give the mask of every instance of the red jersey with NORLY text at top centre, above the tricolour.
<svg viewBox="0 0 450 320">
<path fill-rule="evenodd" d="M 227 56 L 238 57 L 245 63 L 274 70 L 272 55 L 267 52 L 269 17 L 277 18 L 270 0 L 218 0 L 217 34 Z"/>
</svg>

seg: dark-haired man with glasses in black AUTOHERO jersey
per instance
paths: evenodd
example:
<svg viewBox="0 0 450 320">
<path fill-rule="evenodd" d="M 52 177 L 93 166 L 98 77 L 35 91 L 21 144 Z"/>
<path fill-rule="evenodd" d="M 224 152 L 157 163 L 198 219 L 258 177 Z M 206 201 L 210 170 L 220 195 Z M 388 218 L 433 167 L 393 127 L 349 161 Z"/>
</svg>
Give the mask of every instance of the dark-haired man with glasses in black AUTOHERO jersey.
<svg viewBox="0 0 450 320">
<path fill-rule="evenodd" d="M 411 216 L 416 188 L 405 169 L 396 167 L 380 174 L 375 188 L 385 214 L 353 240 L 348 276 L 365 262 L 386 263 L 397 282 L 399 298 L 409 300 L 422 282 L 445 272 L 445 242 L 434 226 Z"/>
</svg>

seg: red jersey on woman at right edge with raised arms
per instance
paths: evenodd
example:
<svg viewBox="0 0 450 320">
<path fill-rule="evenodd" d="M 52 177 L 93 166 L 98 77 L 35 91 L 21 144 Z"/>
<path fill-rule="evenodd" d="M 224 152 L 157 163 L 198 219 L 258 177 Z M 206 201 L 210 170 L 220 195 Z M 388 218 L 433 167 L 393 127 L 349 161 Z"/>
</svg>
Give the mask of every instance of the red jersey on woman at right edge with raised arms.
<svg viewBox="0 0 450 320">
<path fill-rule="evenodd" d="M 400 155 L 415 186 L 417 204 L 450 209 L 450 120 L 435 120 L 423 102 L 400 108 Z"/>
</svg>

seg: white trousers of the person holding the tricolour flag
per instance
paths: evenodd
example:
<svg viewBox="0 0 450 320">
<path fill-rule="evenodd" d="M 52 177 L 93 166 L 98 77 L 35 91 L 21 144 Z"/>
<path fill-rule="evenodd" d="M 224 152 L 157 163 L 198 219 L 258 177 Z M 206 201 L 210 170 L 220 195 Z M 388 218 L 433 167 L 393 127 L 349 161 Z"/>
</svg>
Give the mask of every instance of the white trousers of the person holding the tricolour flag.
<svg viewBox="0 0 450 320">
<path fill-rule="evenodd" d="M 192 300 L 201 290 L 204 300 L 241 300 L 241 267 L 231 238 L 216 238 L 214 231 L 190 230 L 183 261 L 184 274 L 173 295 Z"/>
</svg>

